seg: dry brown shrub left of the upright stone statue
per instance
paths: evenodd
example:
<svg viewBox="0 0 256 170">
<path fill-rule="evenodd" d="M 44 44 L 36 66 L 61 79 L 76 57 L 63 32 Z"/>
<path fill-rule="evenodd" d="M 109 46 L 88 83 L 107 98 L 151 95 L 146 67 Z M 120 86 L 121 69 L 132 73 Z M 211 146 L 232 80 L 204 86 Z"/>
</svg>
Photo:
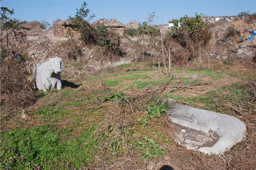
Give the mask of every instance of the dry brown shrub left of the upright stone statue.
<svg viewBox="0 0 256 170">
<path fill-rule="evenodd" d="M 9 61 L 1 63 L 1 106 L 21 109 L 36 101 L 24 63 Z"/>
</svg>

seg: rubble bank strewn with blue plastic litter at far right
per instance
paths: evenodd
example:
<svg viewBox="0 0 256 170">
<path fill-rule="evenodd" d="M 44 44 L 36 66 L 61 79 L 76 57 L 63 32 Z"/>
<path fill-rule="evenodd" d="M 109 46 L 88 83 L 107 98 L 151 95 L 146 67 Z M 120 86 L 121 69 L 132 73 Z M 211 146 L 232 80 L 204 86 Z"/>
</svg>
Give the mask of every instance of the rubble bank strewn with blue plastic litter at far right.
<svg viewBox="0 0 256 170">
<path fill-rule="evenodd" d="M 250 25 L 238 20 L 216 22 L 209 26 L 212 36 L 206 47 L 206 56 L 223 60 L 253 59 L 256 51 L 255 22 Z M 230 32 L 231 29 L 234 32 Z M 205 49 L 202 49 L 202 54 L 205 56 Z"/>
</svg>

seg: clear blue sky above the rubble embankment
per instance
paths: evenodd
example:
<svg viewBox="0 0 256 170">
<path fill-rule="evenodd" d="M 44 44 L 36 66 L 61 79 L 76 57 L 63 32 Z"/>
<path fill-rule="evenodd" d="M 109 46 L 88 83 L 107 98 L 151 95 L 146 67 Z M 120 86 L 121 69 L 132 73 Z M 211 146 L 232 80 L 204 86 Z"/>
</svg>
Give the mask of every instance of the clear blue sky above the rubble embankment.
<svg viewBox="0 0 256 170">
<path fill-rule="evenodd" d="M 1 7 L 14 8 L 11 18 L 21 21 L 42 21 L 49 24 L 57 19 L 66 20 L 74 16 L 76 9 L 82 7 L 84 0 L 1 0 Z M 87 0 L 89 14 L 94 13 L 97 21 L 101 18 L 115 18 L 127 24 L 133 20 L 140 24 L 148 17 L 148 13 L 155 11 L 155 24 L 168 23 L 173 18 L 179 19 L 184 15 L 194 17 L 195 12 L 208 16 L 237 15 L 242 11 L 256 12 L 255 0 Z"/>
</svg>

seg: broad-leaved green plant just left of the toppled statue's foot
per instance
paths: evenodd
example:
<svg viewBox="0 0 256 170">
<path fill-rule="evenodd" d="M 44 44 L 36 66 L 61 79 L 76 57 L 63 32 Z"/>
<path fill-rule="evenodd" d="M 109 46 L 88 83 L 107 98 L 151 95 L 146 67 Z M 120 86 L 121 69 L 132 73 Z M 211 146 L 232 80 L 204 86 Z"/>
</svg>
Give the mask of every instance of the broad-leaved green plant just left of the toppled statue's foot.
<svg viewBox="0 0 256 170">
<path fill-rule="evenodd" d="M 140 157 L 142 159 L 145 159 L 146 161 L 148 161 L 149 159 L 152 159 L 153 157 L 157 158 L 160 157 L 162 158 L 162 156 L 164 156 L 166 149 L 164 149 L 163 147 L 161 147 L 159 144 L 157 144 L 156 141 L 154 141 L 153 139 L 150 139 L 148 137 L 144 137 L 146 144 L 144 142 L 140 142 L 138 141 L 138 145 L 137 147 L 135 147 L 135 149 L 143 149 L 145 148 L 142 152 Z"/>
</svg>

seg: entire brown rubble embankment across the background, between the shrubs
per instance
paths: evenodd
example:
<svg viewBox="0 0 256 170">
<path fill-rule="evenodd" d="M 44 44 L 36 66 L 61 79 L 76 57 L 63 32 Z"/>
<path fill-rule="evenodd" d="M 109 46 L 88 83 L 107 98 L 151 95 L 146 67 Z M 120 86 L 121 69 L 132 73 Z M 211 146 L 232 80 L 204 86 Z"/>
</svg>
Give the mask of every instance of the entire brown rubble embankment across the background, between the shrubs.
<svg viewBox="0 0 256 170">
<path fill-rule="evenodd" d="M 43 25 L 38 21 L 25 23 L 24 27 L 29 27 L 30 30 L 26 31 L 25 43 L 14 41 L 13 37 L 8 38 L 10 49 L 22 48 L 23 57 L 28 60 L 34 60 L 42 62 L 48 58 L 63 57 L 67 54 L 68 50 L 74 48 L 71 40 L 75 40 L 79 49 L 81 50 L 81 56 L 83 60 L 79 60 L 88 67 L 93 68 L 104 68 L 106 65 L 111 66 L 115 63 L 108 63 L 102 60 L 96 61 L 96 53 L 98 47 L 84 46 L 80 43 L 79 33 L 72 30 L 73 37 L 70 38 L 68 35 L 69 21 L 55 21 L 51 28 L 44 29 Z M 124 58 L 120 58 L 122 62 L 129 62 L 130 60 L 136 60 L 142 53 L 142 49 L 148 54 L 157 56 L 158 52 L 156 46 L 159 46 L 157 42 L 155 44 L 149 44 L 145 41 L 141 41 L 140 37 L 123 37 L 124 29 L 136 29 L 139 27 L 139 23 L 130 21 L 130 23 L 124 25 L 115 19 L 100 19 L 91 24 L 91 26 L 97 28 L 98 26 L 105 25 L 108 30 L 113 30 L 116 34 L 120 34 L 120 47 L 124 49 L 126 54 Z M 256 24 L 255 22 L 251 25 L 244 21 L 235 22 L 219 22 L 209 24 L 209 30 L 212 32 L 210 41 L 207 47 L 202 47 L 203 57 L 221 58 L 221 59 L 251 59 L 255 55 L 256 51 Z M 227 28 L 233 27 L 235 30 L 234 36 L 227 36 Z M 162 30 L 163 34 L 171 31 L 169 28 Z M 6 43 L 6 33 L 4 30 L 1 32 L 1 42 Z M 146 45 L 145 45 L 146 44 Z M 75 48 L 73 51 L 76 50 Z M 65 63 L 65 61 L 64 61 Z"/>
</svg>

